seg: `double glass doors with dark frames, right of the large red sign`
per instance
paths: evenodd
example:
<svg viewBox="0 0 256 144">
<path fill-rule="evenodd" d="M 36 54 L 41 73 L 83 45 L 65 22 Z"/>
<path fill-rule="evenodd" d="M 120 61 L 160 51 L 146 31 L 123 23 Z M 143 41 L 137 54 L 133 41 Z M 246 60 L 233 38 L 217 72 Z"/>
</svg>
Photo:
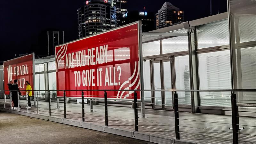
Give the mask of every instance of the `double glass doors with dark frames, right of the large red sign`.
<svg viewBox="0 0 256 144">
<path fill-rule="evenodd" d="M 173 87 L 172 58 L 152 61 L 152 89 L 171 90 Z M 172 92 L 153 92 L 154 108 L 172 108 Z"/>
</svg>

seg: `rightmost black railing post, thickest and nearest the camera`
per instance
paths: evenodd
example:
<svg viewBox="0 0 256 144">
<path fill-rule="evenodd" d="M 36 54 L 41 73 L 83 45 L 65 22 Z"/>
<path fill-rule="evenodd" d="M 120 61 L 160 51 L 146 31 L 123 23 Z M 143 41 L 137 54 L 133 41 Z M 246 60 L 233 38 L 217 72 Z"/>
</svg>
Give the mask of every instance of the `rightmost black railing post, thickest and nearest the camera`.
<svg viewBox="0 0 256 144">
<path fill-rule="evenodd" d="M 238 108 L 236 108 L 236 94 L 234 92 L 231 92 L 231 110 L 232 110 L 233 144 L 238 144 L 238 127 L 237 127 Z"/>
</svg>

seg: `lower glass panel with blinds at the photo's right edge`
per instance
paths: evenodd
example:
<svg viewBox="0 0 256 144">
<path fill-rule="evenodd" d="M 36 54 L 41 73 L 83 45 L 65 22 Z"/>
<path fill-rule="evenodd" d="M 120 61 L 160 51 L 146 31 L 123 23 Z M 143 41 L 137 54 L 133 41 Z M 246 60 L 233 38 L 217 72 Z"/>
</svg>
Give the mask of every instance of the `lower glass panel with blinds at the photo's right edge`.
<svg viewBox="0 0 256 144">
<path fill-rule="evenodd" d="M 242 89 L 256 89 L 256 47 L 241 50 Z M 256 92 L 243 92 L 243 103 L 255 103 Z"/>
</svg>

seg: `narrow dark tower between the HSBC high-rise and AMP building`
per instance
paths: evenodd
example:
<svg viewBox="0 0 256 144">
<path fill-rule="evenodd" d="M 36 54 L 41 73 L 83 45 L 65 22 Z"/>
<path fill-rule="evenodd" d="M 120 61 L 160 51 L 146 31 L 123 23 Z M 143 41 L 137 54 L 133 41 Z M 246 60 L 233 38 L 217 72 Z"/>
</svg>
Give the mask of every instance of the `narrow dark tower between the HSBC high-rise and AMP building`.
<svg viewBox="0 0 256 144">
<path fill-rule="evenodd" d="M 123 25 L 124 17 L 123 15 L 127 13 L 126 8 L 127 1 L 123 0 L 113 0 L 113 5 L 116 7 L 116 25 Z"/>
</svg>

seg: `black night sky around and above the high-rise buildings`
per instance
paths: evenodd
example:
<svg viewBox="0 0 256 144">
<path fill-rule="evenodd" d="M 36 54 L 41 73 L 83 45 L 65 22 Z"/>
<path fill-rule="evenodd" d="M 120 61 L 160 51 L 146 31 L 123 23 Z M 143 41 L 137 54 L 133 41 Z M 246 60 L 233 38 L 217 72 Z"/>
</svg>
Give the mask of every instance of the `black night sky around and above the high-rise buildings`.
<svg viewBox="0 0 256 144">
<path fill-rule="evenodd" d="M 128 11 L 156 13 L 165 1 L 184 11 L 185 21 L 210 15 L 210 0 L 127 0 Z M 1 0 L 0 2 L 0 61 L 16 54 L 32 53 L 38 34 L 48 28 L 64 31 L 65 42 L 77 35 L 77 8 L 85 0 Z M 227 12 L 226 0 L 212 0 L 212 15 Z"/>
</svg>

